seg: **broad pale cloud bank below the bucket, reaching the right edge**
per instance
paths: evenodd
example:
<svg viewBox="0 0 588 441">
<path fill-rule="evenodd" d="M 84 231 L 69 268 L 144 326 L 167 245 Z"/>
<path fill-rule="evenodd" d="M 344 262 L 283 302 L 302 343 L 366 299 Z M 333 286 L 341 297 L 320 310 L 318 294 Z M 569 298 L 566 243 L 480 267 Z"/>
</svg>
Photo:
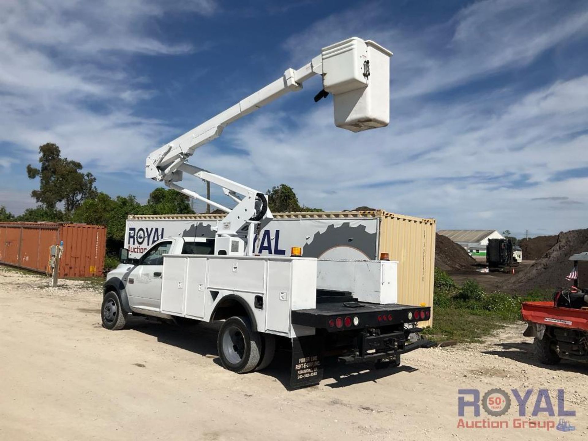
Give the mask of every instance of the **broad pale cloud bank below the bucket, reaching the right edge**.
<svg viewBox="0 0 588 441">
<path fill-rule="evenodd" d="M 546 192 L 588 203 L 582 185 L 549 181 L 588 166 L 588 135 L 569 138 L 584 128 L 588 109 L 566 99 L 570 91 L 582 102 L 588 76 L 529 93 L 495 118 L 473 112 L 476 103 L 429 103 L 418 116 L 397 115 L 389 128 L 363 133 L 336 129 L 326 106 L 297 122 L 259 113 L 225 131 L 248 155 L 202 149 L 195 161 L 262 190 L 290 183 L 302 202 L 326 209 L 370 205 L 463 226 L 477 225 L 481 212 L 508 211 L 517 223 L 519 209 L 539 215 L 545 204 L 531 199 Z"/>
</svg>

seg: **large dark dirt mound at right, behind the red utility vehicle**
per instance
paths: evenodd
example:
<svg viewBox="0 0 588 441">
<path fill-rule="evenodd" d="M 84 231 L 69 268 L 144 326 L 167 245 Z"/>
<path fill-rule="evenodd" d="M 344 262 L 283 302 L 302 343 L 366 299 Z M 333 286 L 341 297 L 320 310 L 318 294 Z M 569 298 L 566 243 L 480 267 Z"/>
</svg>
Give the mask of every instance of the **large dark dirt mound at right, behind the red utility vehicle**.
<svg viewBox="0 0 588 441">
<path fill-rule="evenodd" d="M 588 229 L 559 233 L 556 244 L 533 265 L 510 279 L 503 289 L 527 292 L 536 288 L 555 290 L 570 286 L 566 276 L 572 271 L 573 263 L 569 258 L 584 251 L 588 251 Z"/>
</svg>

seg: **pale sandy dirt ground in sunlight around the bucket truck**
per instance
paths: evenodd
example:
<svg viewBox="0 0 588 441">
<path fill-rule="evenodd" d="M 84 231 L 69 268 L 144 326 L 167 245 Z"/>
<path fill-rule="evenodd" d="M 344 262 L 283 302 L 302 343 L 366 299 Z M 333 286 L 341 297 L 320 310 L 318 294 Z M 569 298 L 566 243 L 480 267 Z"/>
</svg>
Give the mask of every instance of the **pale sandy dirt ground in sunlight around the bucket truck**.
<svg viewBox="0 0 588 441">
<path fill-rule="evenodd" d="M 588 366 L 537 365 L 523 323 L 485 343 L 416 350 L 396 369 L 333 366 L 319 386 L 289 391 L 285 356 L 237 375 L 219 366 L 215 328 L 136 319 L 108 331 L 98 289 L 60 285 L 0 268 L 2 440 L 522 440 L 588 431 Z M 532 403 L 549 389 L 556 413 L 563 388 L 576 430 L 458 428 L 458 390 L 494 387 L 534 389 Z M 517 409 L 513 402 L 500 418 Z"/>
</svg>

